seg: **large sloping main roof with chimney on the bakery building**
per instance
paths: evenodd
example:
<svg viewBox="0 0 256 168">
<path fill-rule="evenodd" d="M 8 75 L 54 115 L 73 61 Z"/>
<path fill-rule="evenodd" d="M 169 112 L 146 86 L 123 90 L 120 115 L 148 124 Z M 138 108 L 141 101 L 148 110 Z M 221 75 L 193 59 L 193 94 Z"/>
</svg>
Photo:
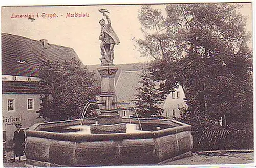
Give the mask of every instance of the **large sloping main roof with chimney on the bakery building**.
<svg viewBox="0 0 256 168">
<path fill-rule="evenodd" d="M 2 33 L 2 74 L 38 76 L 39 64 L 44 60 L 63 61 L 78 58 L 74 49 Z M 79 59 L 79 58 L 78 58 Z M 18 62 L 19 60 L 22 63 Z M 25 61 L 23 63 L 23 60 Z"/>
</svg>

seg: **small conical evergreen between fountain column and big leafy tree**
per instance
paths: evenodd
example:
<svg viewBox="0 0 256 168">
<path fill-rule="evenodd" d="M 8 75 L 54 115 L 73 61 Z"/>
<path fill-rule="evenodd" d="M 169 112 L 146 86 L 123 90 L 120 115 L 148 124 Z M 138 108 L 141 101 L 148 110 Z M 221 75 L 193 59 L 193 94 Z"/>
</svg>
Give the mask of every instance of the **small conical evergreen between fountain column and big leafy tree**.
<svg viewBox="0 0 256 168">
<path fill-rule="evenodd" d="M 140 75 L 141 85 L 137 87 L 135 107 L 138 115 L 144 118 L 161 117 L 163 109 L 160 107 L 165 95 L 157 88 L 157 83 L 153 81 L 152 74 L 146 69 Z"/>
</svg>

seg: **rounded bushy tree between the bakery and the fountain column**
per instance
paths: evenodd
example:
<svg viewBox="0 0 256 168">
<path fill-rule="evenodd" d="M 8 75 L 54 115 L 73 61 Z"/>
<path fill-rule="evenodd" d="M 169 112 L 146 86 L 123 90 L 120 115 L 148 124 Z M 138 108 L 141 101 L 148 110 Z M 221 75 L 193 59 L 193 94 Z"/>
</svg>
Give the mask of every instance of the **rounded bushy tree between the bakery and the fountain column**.
<svg viewBox="0 0 256 168">
<path fill-rule="evenodd" d="M 84 105 L 96 100 L 99 93 L 93 76 L 94 73 L 82 67 L 75 58 L 63 62 L 43 62 L 39 71 L 39 117 L 49 121 L 81 117 Z"/>
</svg>

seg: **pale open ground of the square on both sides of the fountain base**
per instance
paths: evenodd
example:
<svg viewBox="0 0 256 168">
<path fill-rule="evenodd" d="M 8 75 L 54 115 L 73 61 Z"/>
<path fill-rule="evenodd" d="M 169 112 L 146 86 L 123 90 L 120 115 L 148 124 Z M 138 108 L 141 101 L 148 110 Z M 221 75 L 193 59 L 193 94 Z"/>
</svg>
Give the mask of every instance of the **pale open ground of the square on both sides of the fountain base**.
<svg viewBox="0 0 256 168">
<path fill-rule="evenodd" d="M 13 154 L 12 151 L 7 152 L 7 162 L 4 163 L 4 167 L 24 167 L 26 156 L 23 156 L 20 162 L 12 163 L 10 162 L 10 159 L 12 159 L 12 154 Z M 248 152 L 248 153 L 220 152 L 218 154 L 204 154 L 204 155 L 199 155 L 193 152 L 192 156 L 190 157 L 182 158 L 175 161 L 165 162 L 164 164 L 159 164 L 159 166 L 161 167 L 161 165 L 198 165 L 198 164 L 249 164 L 254 162 L 253 158 L 254 158 L 253 152 Z"/>
</svg>

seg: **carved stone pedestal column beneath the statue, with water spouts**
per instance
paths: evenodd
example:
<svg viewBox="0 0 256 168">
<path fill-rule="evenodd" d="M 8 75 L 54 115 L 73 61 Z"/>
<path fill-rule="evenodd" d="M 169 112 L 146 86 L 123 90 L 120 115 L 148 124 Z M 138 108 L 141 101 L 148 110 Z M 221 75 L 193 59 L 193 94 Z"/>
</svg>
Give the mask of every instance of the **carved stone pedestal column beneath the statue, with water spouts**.
<svg viewBox="0 0 256 168">
<path fill-rule="evenodd" d="M 118 68 L 114 65 L 103 65 L 98 68 L 101 76 L 100 91 L 100 115 L 97 117 L 98 124 L 118 124 L 121 123 L 120 115 L 117 111 L 115 93 L 115 75 Z"/>
</svg>

